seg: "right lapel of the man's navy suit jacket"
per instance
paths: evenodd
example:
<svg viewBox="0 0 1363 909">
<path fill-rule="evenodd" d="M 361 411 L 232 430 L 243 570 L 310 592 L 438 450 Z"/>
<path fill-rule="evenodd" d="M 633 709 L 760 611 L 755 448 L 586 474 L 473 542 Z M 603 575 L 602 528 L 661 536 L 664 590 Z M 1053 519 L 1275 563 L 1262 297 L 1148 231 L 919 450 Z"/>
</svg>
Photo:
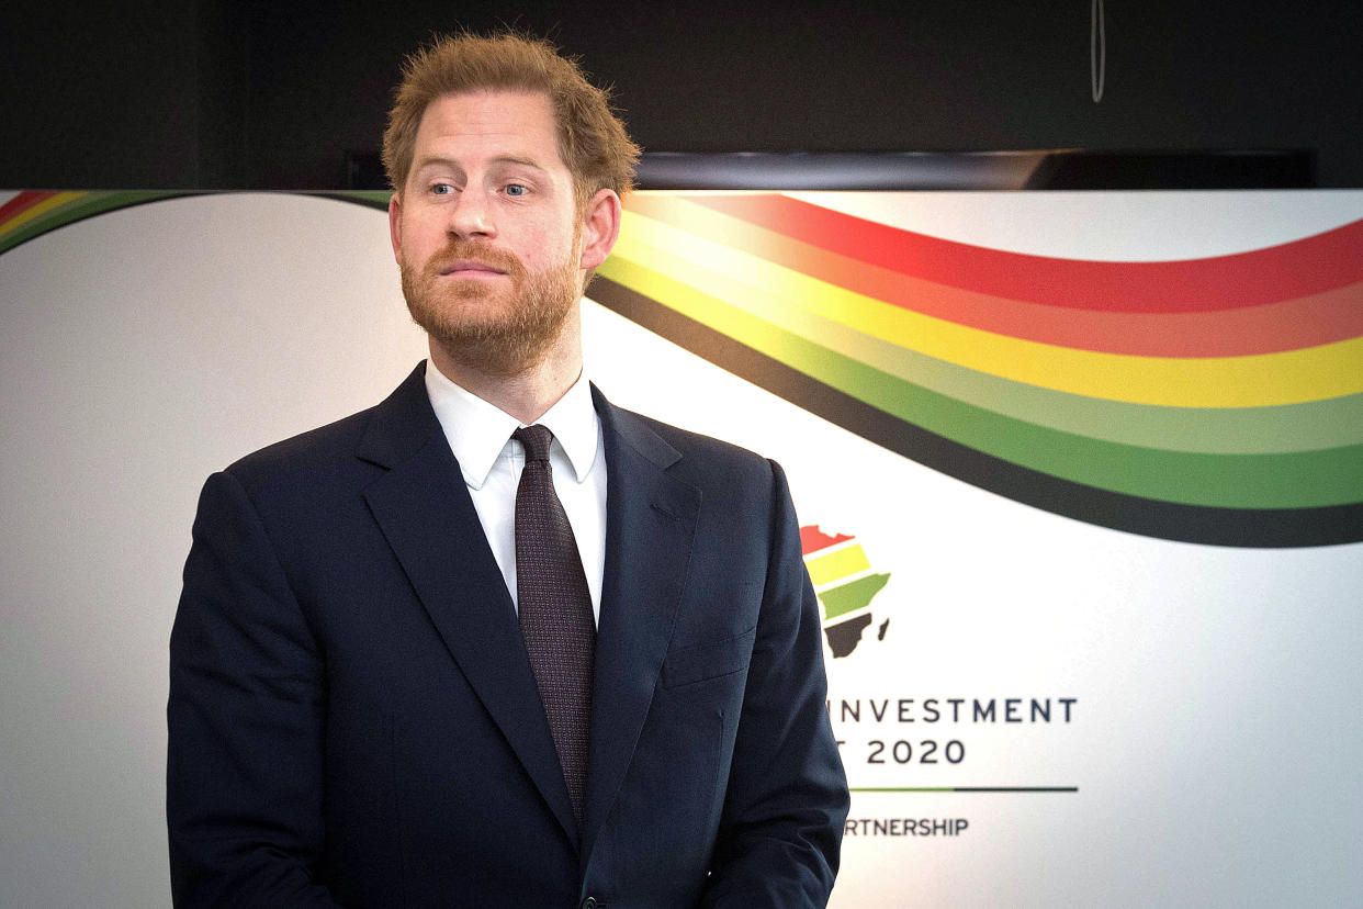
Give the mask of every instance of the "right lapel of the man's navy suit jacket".
<svg viewBox="0 0 1363 909">
<path fill-rule="evenodd" d="M 699 489 L 667 473 L 682 455 L 638 417 L 592 391 L 605 440 L 607 551 L 583 856 L 615 801 L 653 700 L 701 506 Z"/>
</svg>

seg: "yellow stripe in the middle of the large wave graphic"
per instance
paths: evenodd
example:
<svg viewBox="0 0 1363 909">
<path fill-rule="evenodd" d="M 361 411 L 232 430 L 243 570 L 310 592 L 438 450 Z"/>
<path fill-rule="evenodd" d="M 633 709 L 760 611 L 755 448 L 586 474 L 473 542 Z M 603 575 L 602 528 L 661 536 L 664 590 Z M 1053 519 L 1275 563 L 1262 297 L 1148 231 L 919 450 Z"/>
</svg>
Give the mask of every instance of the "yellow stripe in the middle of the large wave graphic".
<svg viewBox="0 0 1363 909">
<path fill-rule="evenodd" d="M 1247 357 L 1138 357 L 1077 350 L 902 309 L 631 211 L 624 213 L 616 255 L 767 322 L 797 319 L 799 311 L 815 313 L 969 369 L 1092 398 L 1255 407 L 1363 391 L 1363 338 Z M 732 281 L 747 290 L 735 293 Z M 707 324 L 726 328 L 722 322 Z"/>
</svg>

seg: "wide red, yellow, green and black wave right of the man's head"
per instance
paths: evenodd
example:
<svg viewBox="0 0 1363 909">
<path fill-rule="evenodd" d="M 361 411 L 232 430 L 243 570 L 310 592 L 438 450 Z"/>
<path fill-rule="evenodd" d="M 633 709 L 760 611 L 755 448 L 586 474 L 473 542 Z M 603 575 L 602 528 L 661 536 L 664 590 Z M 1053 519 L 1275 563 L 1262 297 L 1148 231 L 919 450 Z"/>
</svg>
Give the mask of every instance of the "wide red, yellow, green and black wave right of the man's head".
<svg viewBox="0 0 1363 909">
<path fill-rule="evenodd" d="M 592 297 L 984 489 L 1169 540 L 1363 540 L 1363 221 L 1186 262 L 635 194 Z"/>
</svg>

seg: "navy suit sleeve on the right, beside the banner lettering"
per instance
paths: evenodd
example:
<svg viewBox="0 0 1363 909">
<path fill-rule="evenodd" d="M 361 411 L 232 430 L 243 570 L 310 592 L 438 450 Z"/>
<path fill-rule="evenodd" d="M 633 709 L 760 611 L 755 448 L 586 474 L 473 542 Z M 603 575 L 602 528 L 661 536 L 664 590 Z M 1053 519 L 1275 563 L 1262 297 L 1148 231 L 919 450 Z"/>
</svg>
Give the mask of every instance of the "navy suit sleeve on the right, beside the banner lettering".
<svg viewBox="0 0 1363 909">
<path fill-rule="evenodd" d="M 849 805 L 827 717 L 818 601 L 776 462 L 771 474 L 766 589 L 702 906 L 823 906 Z"/>
</svg>

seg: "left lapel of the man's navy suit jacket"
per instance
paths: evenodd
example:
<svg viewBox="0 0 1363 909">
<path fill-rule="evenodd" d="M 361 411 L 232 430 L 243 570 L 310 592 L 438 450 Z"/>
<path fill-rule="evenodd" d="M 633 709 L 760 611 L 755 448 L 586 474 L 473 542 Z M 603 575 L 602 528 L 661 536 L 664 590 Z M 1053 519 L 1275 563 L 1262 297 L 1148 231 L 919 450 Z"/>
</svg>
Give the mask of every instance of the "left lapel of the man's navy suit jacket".
<svg viewBox="0 0 1363 909">
<path fill-rule="evenodd" d="M 365 500 L 450 654 L 577 844 L 515 609 L 423 375 L 418 367 L 375 409 L 358 454 L 388 473 Z"/>
</svg>

